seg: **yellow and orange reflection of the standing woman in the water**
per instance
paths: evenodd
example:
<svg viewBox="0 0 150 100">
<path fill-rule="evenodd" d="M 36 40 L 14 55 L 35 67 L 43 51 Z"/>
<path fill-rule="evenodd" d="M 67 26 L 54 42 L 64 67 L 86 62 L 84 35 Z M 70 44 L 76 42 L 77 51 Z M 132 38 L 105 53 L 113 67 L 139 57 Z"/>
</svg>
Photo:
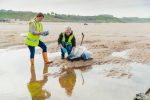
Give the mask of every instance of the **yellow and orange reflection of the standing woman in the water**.
<svg viewBox="0 0 150 100">
<path fill-rule="evenodd" d="M 48 72 L 48 66 L 44 65 L 43 74 Z M 51 96 L 51 93 L 46 89 L 43 89 L 43 86 L 48 81 L 47 76 L 43 76 L 42 80 L 36 79 L 35 66 L 31 66 L 31 79 L 28 83 L 28 90 L 32 97 L 32 100 L 45 100 Z"/>
</svg>

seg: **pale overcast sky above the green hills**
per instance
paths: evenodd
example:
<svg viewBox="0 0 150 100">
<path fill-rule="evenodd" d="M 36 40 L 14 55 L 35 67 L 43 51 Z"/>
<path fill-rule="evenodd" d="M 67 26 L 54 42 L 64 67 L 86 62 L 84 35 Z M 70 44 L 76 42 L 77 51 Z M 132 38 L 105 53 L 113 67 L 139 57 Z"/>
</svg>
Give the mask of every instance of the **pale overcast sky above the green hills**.
<svg viewBox="0 0 150 100">
<path fill-rule="evenodd" d="M 150 17 L 150 0 L 0 0 L 0 9 L 116 17 Z"/>
</svg>

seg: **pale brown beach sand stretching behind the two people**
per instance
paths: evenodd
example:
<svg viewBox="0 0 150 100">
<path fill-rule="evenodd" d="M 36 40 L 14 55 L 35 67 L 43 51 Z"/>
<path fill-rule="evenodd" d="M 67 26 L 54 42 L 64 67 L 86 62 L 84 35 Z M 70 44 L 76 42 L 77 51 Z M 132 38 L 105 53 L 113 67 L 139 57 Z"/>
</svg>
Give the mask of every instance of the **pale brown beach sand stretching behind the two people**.
<svg viewBox="0 0 150 100">
<path fill-rule="evenodd" d="M 93 52 L 94 62 L 126 63 L 128 60 L 110 56 L 115 51 L 136 48 L 130 53 L 130 57 L 137 62 L 150 63 L 150 24 L 142 23 L 43 23 L 44 29 L 50 31 L 50 35 L 42 37 L 48 46 L 48 52 L 60 51 L 57 39 L 65 26 L 71 26 L 80 45 L 81 33 L 85 34 L 83 45 Z M 0 23 L 0 48 L 15 46 L 15 49 L 26 48 L 25 37 L 28 32 L 28 22 Z M 145 51 L 145 52 L 142 52 Z M 38 50 L 37 53 L 41 53 Z"/>
</svg>

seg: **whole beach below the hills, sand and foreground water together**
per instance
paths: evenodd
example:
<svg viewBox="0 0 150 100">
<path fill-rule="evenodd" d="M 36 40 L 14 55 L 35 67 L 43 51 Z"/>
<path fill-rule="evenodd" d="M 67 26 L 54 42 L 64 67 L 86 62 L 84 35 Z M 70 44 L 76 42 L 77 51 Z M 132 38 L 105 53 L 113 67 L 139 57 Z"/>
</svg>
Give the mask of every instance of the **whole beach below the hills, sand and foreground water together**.
<svg viewBox="0 0 150 100">
<path fill-rule="evenodd" d="M 37 48 L 35 66 L 31 67 L 22 35 L 27 32 L 27 22 L 0 23 L 0 97 L 3 100 L 30 100 L 38 89 L 44 92 L 35 98 L 133 100 L 136 93 L 150 87 L 150 24 L 43 25 L 51 32 L 48 37 L 42 38 L 48 46 L 49 58 L 55 62 L 49 67 L 44 66 L 41 50 Z M 77 45 L 84 32 L 84 46 L 93 53 L 92 61 L 72 63 L 60 60 L 57 38 L 67 25 L 74 29 Z M 55 75 L 64 66 L 68 69 L 62 75 Z M 43 76 L 45 73 L 48 76 Z M 43 93 L 46 96 L 43 97 Z"/>
</svg>

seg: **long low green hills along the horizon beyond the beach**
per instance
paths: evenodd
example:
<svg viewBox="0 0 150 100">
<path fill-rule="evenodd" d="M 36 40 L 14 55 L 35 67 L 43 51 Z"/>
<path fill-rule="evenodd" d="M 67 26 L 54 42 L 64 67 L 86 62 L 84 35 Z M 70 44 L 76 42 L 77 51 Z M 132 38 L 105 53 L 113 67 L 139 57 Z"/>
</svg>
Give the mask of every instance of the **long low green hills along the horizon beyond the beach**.
<svg viewBox="0 0 150 100">
<path fill-rule="evenodd" d="M 0 10 L 0 19 L 19 19 L 21 21 L 29 21 L 34 18 L 36 12 L 30 11 L 12 11 Z M 98 16 L 79 16 L 79 15 L 65 15 L 54 12 L 44 14 L 44 21 L 49 22 L 94 22 L 94 23 L 134 23 L 134 22 L 150 22 L 150 18 L 125 17 L 117 18 L 112 15 L 98 15 Z"/>
</svg>

